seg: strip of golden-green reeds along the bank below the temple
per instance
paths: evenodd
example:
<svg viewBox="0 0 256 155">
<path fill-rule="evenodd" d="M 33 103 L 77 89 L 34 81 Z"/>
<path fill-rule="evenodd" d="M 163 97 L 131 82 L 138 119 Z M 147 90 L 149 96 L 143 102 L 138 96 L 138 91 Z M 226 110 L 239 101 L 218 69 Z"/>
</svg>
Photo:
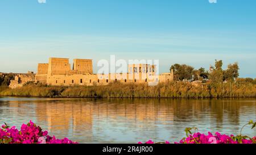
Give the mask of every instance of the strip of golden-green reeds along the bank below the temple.
<svg viewBox="0 0 256 155">
<path fill-rule="evenodd" d="M 135 83 L 110 83 L 107 86 L 47 86 L 30 84 L 16 89 L 0 87 L 0 95 L 13 97 L 57 98 L 227 98 L 256 97 L 255 85 L 243 83 L 159 83 L 151 87 Z"/>
</svg>

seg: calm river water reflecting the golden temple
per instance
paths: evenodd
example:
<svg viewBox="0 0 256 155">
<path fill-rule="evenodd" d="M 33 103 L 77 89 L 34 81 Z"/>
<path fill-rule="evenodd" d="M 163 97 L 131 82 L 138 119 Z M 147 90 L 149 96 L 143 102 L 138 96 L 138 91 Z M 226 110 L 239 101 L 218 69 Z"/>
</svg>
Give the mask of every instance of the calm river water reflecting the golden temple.
<svg viewBox="0 0 256 155">
<path fill-rule="evenodd" d="M 0 97 L 0 123 L 34 121 L 49 135 L 79 143 L 179 141 L 185 127 L 238 134 L 256 121 L 256 99 L 48 99 Z M 256 129 L 244 134 L 256 136 Z"/>
</svg>

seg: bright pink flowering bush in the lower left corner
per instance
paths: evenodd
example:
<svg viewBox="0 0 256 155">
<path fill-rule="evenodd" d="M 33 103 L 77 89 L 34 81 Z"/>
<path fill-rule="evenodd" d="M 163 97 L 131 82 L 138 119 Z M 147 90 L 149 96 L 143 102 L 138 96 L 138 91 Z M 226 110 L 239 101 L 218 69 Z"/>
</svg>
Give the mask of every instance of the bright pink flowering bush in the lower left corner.
<svg viewBox="0 0 256 155">
<path fill-rule="evenodd" d="M 67 138 L 56 139 L 49 136 L 47 131 L 37 126 L 31 120 L 22 124 L 20 131 L 16 127 L 9 127 L 7 124 L 0 128 L 0 144 L 77 144 Z"/>
</svg>

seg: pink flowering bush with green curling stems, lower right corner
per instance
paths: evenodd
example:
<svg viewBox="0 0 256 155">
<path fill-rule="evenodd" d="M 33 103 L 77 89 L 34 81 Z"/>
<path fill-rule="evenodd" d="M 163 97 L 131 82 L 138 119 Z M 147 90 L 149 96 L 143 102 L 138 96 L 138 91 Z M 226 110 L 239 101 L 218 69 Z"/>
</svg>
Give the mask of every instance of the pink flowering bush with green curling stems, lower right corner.
<svg viewBox="0 0 256 155">
<path fill-rule="evenodd" d="M 256 122 L 250 120 L 250 122 L 243 125 L 243 127 L 248 124 L 252 125 L 251 129 L 256 126 Z M 256 136 L 252 138 L 248 136 L 242 136 L 243 127 L 241 128 L 240 135 L 238 136 L 228 136 L 225 134 L 221 135 L 218 132 L 216 132 L 214 135 L 208 132 L 208 135 L 205 135 L 203 133 L 196 132 L 197 128 L 186 128 L 185 132 L 187 137 L 184 137 L 179 142 L 175 142 L 175 144 L 256 144 Z M 191 132 L 192 129 L 195 129 L 195 133 Z M 138 144 L 142 144 L 142 142 L 139 142 Z M 145 144 L 154 144 L 154 142 L 149 140 Z M 170 144 L 170 142 L 166 141 L 165 143 L 160 142 L 158 144 Z"/>
</svg>

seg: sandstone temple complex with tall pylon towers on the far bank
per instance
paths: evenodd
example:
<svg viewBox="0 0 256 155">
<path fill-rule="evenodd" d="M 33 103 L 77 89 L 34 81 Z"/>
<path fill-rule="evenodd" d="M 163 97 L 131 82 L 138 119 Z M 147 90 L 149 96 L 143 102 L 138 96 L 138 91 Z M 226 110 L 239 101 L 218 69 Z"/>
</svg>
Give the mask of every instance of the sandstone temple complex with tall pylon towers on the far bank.
<svg viewBox="0 0 256 155">
<path fill-rule="evenodd" d="M 156 74 L 156 66 L 149 64 L 129 64 L 128 73 L 94 74 L 93 63 L 89 59 L 49 58 L 48 64 L 38 64 L 38 72 L 31 78 L 15 77 L 10 87 L 20 87 L 24 83 L 36 82 L 53 86 L 108 85 L 110 82 L 155 83 L 174 80 L 174 73 Z"/>
</svg>

